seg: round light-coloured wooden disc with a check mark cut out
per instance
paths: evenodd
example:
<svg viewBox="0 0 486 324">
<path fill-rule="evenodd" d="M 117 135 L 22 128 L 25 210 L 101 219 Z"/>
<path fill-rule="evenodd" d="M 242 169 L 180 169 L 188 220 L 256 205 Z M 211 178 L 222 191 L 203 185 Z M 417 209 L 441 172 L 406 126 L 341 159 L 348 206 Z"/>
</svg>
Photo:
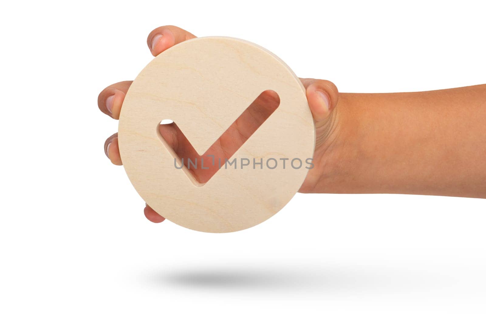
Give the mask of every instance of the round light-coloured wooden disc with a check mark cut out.
<svg viewBox="0 0 486 324">
<path fill-rule="evenodd" d="M 202 186 L 174 167 L 158 132 L 162 120 L 174 120 L 203 154 L 264 90 L 276 91 L 280 105 L 230 159 L 250 159 L 249 167 L 223 167 Z M 202 37 L 140 72 L 124 99 L 118 138 L 126 173 L 149 206 L 181 226 L 224 233 L 259 224 L 295 195 L 315 129 L 304 87 L 276 55 L 241 39 Z M 253 169 L 253 158 L 263 159 L 262 169 Z M 299 158 L 304 166 L 294 169 L 289 160 L 285 169 L 269 169 L 270 158 Z"/>
</svg>

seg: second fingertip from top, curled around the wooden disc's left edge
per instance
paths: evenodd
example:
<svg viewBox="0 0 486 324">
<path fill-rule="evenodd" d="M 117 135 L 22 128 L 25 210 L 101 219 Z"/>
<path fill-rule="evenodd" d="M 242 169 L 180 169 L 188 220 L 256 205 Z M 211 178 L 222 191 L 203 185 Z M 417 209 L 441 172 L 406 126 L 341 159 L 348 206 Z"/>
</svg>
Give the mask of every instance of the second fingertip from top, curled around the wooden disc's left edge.
<svg viewBox="0 0 486 324">
<path fill-rule="evenodd" d="M 108 116 L 119 119 L 121 105 L 133 81 L 122 81 L 104 88 L 98 95 L 98 108 Z"/>
</svg>

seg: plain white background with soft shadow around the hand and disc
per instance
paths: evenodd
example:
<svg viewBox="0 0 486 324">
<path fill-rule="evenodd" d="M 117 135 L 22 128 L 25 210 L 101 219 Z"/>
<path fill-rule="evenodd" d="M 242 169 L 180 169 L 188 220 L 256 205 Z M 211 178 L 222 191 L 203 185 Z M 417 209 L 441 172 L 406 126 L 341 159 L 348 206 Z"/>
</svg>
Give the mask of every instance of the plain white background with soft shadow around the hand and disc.
<svg viewBox="0 0 486 324">
<path fill-rule="evenodd" d="M 297 194 L 238 233 L 153 224 L 104 156 L 117 122 L 96 102 L 151 60 L 146 36 L 167 24 L 253 41 L 342 92 L 481 84 L 484 12 L 483 1 L 3 3 L 0 322 L 485 323 L 486 200 Z"/>
</svg>

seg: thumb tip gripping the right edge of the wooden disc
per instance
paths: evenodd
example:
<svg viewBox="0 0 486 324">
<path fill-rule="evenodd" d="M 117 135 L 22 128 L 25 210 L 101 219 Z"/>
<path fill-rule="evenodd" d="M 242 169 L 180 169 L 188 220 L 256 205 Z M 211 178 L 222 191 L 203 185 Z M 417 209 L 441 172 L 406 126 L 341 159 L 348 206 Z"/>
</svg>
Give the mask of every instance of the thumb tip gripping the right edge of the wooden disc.
<svg viewBox="0 0 486 324">
<path fill-rule="evenodd" d="M 339 92 L 328 80 L 301 79 L 316 123 L 324 121 L 337 105 Z"/>
</svg>

